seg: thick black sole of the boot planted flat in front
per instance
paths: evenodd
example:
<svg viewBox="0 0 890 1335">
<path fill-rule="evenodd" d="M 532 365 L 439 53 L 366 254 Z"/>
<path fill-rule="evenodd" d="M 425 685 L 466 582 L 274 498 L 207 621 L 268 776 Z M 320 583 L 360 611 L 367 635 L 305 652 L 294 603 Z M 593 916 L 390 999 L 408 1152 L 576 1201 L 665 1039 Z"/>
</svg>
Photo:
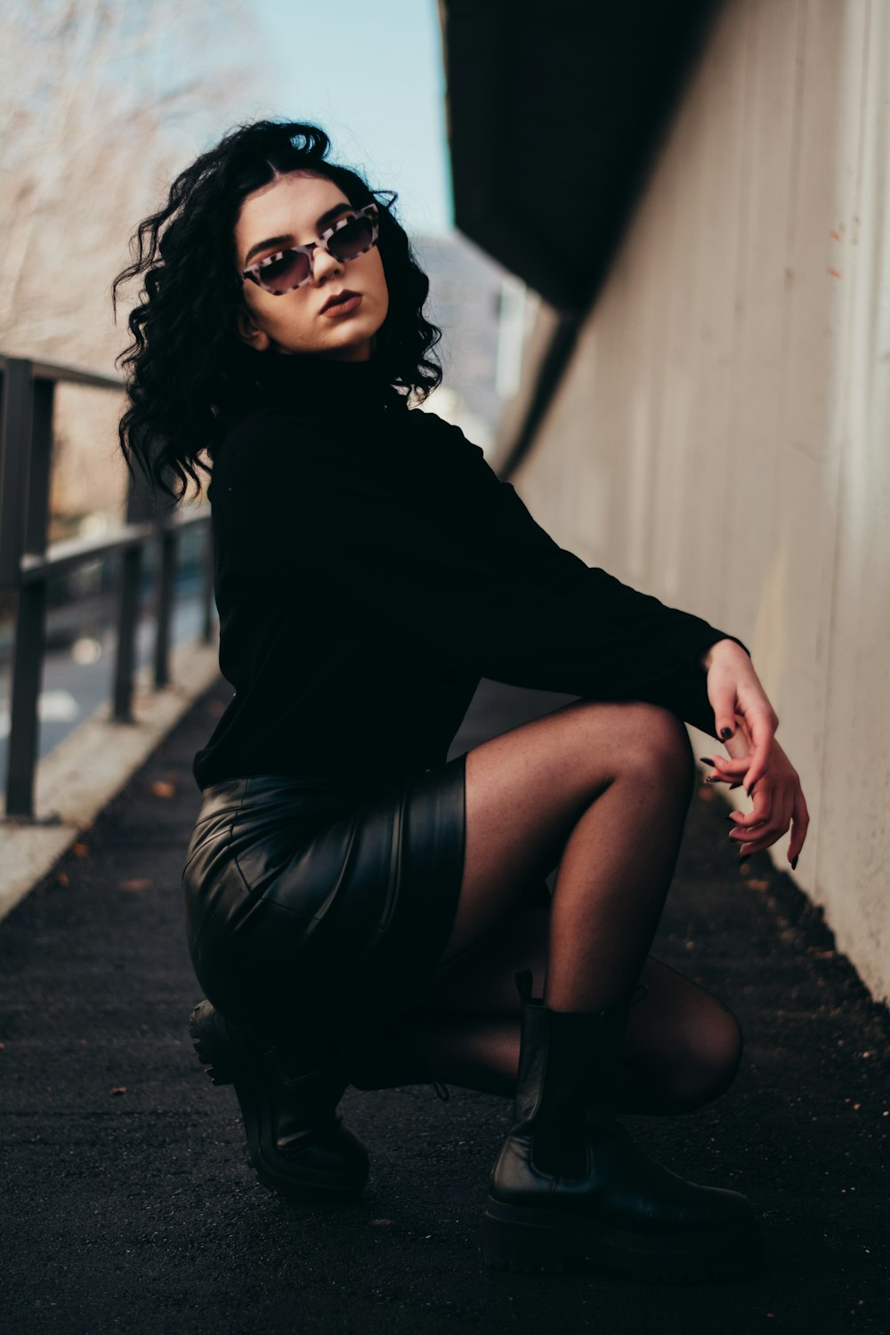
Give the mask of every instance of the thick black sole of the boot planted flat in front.
<svg viewBox="0 0 890 1335">
<path fill-rule="evenodd" d="M 640 1283 L 697 1283 L 747 1275 L 762 1260 L 757 1219 L 709 1236 L 650 1238 L 560 1211 L 504 1206 L 488 1196 L 482 1255 L 492 1270 L 562 1275 L 574 1260 L 624 1271 Z"/>
</svg>

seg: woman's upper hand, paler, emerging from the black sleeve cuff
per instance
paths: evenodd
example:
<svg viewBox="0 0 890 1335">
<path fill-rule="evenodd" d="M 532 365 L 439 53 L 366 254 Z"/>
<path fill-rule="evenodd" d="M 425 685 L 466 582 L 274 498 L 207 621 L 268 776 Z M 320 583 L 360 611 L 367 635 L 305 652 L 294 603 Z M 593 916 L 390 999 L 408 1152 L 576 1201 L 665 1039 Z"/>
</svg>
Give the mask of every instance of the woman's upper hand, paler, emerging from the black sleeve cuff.
<svg viewBox="0 0 890 1335">
<path fill-rule="evenodd" d="M 714 710 L 717 734 L 730 756 L 725 761 L 726 774 L 734 782 L 745 784 L 750 796 L 757 781 L 766 773 L 773 748 L 773 736 L 779 726 L 779 718 L 766 698 L 761 680 L 754 672 L 754 663 L 741 645 L 734 639 L 718 639 L 702 658 L 707 670 L 707 698 Z M 747 745 L 743 750 L 727 745 L 735 737 L 737 721 L 745 725 Z"/>
</svg>

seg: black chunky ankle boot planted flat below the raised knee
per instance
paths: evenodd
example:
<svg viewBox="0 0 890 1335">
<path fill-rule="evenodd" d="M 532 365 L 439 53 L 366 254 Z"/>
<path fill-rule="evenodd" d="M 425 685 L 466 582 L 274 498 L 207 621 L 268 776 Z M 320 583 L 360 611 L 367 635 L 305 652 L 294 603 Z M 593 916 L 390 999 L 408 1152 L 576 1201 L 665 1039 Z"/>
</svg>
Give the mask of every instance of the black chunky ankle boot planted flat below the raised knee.
<svg viewBox="0 0 890 1335">
<path fill-rule="evenodd" d="M 615 1117 L 630 1003 L 550 1011 L 516 973 L 522 1041 L 514 1120 L 490 1179 L 483 1256 L 560 1274 L 587 1258 L 635 1279 L 725 1278 L 755 1266 L 754 1207 L 654 1163 Z"/>
</svg>

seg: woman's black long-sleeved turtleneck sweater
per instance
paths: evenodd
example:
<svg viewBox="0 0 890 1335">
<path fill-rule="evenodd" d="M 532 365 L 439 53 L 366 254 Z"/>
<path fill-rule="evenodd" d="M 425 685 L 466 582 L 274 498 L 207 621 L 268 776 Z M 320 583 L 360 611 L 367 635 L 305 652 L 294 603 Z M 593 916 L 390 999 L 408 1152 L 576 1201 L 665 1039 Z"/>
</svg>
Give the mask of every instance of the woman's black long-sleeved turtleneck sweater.
<svg viewBox="0 0 890 1335">
<path fill-rule="evenodd" d="M 442 764 L 482 677 L 651 701 L 714 736 L 701 657 L 735 637 L 559 547 L 374 358 L 256 364 L 262 406 L 208 489 L 235 696 L 195 756 L 199 788 Z"/>
</svg>

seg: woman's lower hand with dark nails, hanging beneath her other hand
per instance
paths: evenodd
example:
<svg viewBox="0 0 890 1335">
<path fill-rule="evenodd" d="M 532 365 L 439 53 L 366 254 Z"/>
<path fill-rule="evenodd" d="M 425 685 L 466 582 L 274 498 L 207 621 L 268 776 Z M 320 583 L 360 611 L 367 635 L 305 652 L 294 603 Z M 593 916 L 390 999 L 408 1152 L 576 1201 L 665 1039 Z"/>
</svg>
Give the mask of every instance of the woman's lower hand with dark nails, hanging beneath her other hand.
<svg viewBox="0 0 890 1335">
<path fill-rule="evenodd" d="M 739 722 L 735 734 L 723 745 L 730 756 L 742 758 L 750 753 L 751 738 L 747 725 Z M 711 782 L 738 782 L 730 772 L 733 761 L 727 761 L 722 756 L 702 758 L 710 760 L 714 766 Z M 757 781 L 751 800 L 754 806 L 750 812 L 733 812 L 730 814 L 730 820 L 734 822 L 730 840 L 741 845 L 739 858 L 769 848 L 793 826 L 787 858 L 791 864 L 791 870 L 794 870 L 801 849 L 803 848 L 803 841 L 806 840 L 810 816 L 806 809 L 798 773 L 775 738 L 773 738 L 770 748 L 769 764 L 762 777 Z"/>
</svg>

